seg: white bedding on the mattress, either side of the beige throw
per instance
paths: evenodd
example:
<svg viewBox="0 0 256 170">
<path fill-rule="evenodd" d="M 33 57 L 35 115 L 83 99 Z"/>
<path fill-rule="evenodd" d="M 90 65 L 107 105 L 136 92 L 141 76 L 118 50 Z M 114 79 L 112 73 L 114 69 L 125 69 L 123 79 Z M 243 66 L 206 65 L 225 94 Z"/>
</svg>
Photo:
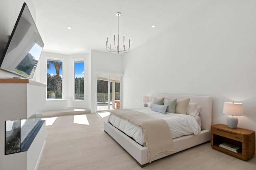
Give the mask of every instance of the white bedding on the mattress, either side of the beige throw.
<svg viewBox="0 0 256 170">
<path fill-rule="evenodd" d="M 201 132 L 201 121 L 199 116 L 190 116 L 176 113 L 168 113 L 166 115 L 151 111 L 151 108 L 140 108 L 140 109 L 131 109 L 134 111 L 142 112 L 146 115 L 152 117 L 157 117 L 164 119 L 170 128 L 172 138 L 177 138 L 189 134 L 198 134 Z M 114 115 L 109 115 L 108 122 L 110 122 L 114 127 L 120 129 L 122 132 L 132 137 L 136 142 L 145 146 L 145 140 L 143 132 L 140 127 L 137 127 L 128 121 L 124 121 Z"/>
</svg>

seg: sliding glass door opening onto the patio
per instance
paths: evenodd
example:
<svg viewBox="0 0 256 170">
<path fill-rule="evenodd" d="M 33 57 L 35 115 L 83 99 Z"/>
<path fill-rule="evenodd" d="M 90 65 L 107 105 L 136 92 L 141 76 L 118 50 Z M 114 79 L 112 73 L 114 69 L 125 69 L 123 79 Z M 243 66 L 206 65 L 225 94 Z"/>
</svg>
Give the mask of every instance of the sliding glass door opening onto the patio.
<svg viewBox="0 0 256 170">
<path fill-rule="evenodd" d="M 97 112 L 121 108 L 121 76 L 97 75 Z"/>
</svg>

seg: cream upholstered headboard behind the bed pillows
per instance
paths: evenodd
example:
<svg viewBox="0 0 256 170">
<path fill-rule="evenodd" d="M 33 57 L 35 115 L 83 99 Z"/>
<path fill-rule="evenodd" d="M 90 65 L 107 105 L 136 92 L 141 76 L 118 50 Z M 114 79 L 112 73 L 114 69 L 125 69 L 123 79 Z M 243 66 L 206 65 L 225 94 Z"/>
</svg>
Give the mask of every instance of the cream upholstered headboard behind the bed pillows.
<svg viewBox="0 0 256 170">
<path fill-rule="evenodd" d="M 212 125 L 212 97 L 210 96 L 190 96 L 190 95 L 171 95 L 171 94 L 157 94 L 156 98 L 166 97 L 168 99 L 184 99 L 190 98 L 190 103 L 197 103 L 202 107 L 199 116 L 201 118 L 201 129 L 210 130 Z"/>
</svg>

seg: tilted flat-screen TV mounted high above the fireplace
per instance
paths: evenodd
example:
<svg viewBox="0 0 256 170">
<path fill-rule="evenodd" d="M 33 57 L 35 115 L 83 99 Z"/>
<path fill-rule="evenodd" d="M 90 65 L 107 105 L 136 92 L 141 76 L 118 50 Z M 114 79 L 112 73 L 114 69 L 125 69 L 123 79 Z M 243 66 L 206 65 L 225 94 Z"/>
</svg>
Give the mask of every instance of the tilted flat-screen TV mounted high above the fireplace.
<svg viewBox="0 0 256 170">
<path fill-rule="evenodd" d="M 24 3 L 0 60 L 0 68 L 32 79 L 43 47 L 36 24 Z"/>
</svg>

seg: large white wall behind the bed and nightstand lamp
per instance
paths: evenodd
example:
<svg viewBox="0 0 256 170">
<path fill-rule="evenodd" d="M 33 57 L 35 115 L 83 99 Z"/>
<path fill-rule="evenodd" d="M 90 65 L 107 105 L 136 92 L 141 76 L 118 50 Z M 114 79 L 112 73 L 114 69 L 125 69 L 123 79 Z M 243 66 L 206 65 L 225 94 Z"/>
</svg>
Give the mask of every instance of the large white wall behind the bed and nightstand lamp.
<svg viewBox="0 0 256 170">
<path fill-rule="evenodd" d="M 212 96 L 212 124 L 224 102 L 243 103 L 238 127 L 256 131 L 256 1 L 212 0 L 124 55 L 124 108 L 153 93 Z M 156 28 L 157 29 L 157 28 Z"/>
</svg>

